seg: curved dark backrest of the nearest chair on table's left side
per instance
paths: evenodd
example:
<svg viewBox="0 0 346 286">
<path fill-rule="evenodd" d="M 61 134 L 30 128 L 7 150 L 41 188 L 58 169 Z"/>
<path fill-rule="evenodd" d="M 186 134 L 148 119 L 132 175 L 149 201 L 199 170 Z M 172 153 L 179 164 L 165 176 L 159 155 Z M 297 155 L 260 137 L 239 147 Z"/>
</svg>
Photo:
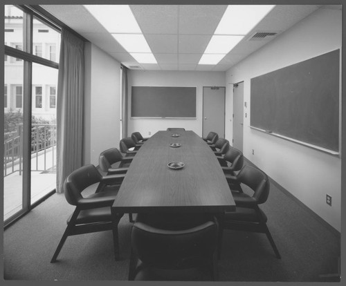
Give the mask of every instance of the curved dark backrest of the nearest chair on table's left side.
<svg viewBox="0 0 346 286">
<path fill-rule="evenodd" d="M 87 187 L 100 182 L 102 175 L 93 164 L 87 164 L 73 171 L 64 181 L 64 195 L 74 206 L 78 205 L 78 201 L 83 198 L 81 193 Z"/>
</svg>

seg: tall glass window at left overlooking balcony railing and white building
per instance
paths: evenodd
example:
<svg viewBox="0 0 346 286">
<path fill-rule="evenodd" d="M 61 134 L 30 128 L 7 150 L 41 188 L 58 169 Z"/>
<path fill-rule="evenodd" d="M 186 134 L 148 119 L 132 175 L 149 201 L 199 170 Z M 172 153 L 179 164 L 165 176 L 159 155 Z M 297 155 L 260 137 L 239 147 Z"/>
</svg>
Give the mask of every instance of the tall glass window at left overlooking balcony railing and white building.
<svg viewBox="0 0 346 286">
<path fill-rule="evenodd" d="M 30 211 L 33 204 L 56 186 L 58 70 L 57 65 L 47 64 L 42 59 L 57 63 L 60 32 L 44 20 L 35 19 L 31 13 L 26 15 L 25 7 L 23 10 L 12 5 L 4 8 L 5 45 L 24 52 L 17 56 L 20 58 L 4 57 L 3 213 L 7 225 L 21 213 Z M 24 25 L 24 18 L 33 21 L 32 30 L 30 25 Z M 24 43 L 28 41 L 33 42 L 32 55 L 37 57 L 32 57 L 26 50 Z M 24 64 L 28 63 L 32 68 L 24 69 Z M 31 82 L 24 84 L 24 78 Z M 30 88 L 32 92 L 27 93 Z M 30 98 L 24 100 L 24 96 Z M 26 114 L 28 108 L 31 108 L 30 115 Z M 30 130 L 24 130 L 27 126 Z M 23 133 L 30 134 L 30 140 L 23 140 Z"/>
</svg>

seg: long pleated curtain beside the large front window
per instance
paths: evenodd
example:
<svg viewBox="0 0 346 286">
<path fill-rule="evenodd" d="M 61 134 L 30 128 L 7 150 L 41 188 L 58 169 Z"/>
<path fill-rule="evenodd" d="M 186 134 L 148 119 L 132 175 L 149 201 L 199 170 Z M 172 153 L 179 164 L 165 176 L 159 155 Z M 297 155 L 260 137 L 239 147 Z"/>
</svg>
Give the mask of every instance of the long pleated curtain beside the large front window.
<svg viewBox="0 0 346 286">
<path fill-rule="evenodd" d="M 82 166 L 84 41 L 62 29 L 57 82 L 57 192 Z"/>
</svg>

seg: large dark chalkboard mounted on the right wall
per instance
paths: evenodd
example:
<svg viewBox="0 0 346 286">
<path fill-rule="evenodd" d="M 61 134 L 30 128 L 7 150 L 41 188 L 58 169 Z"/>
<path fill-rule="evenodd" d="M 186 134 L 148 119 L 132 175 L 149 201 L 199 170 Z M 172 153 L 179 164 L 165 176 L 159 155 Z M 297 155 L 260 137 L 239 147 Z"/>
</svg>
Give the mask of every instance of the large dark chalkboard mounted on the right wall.
<svg viewBox="0 0 346 286">
<path fill-rule="evenodd" d="M 251 79 L 251 126 L 339 150 L 340 50 Z"/>
</svg>

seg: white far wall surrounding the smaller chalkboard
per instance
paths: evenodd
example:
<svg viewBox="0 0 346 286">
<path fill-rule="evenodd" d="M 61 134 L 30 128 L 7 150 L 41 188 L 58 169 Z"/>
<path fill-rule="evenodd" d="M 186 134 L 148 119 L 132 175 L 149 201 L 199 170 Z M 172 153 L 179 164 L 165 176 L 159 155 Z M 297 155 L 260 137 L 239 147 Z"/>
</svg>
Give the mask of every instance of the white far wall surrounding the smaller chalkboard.
<svg viewBox="0 0 346 286">
<path fill-rule="evenodd" d="M 202 135 L 203 86 L 226 86 L 225 72 L 129 70 L 128 134 L 139 131 L 150 137 L 167 127 L 183 127 Z M 131 86 L 197 86 L 197 119 L 131 119 Z M 149 132 L 151 135 L 149 135 Z"/>
</svg>

